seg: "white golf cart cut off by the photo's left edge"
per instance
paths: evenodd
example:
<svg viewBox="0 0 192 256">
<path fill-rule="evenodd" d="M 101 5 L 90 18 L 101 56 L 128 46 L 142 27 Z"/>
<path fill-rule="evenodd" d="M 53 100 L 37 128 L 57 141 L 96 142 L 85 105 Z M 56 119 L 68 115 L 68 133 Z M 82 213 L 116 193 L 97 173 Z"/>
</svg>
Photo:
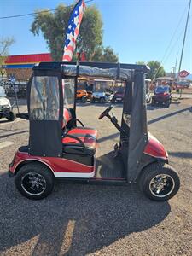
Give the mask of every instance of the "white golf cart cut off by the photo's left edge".
<svg viewBox="0 0 192 256">
<path fill-rule="evenodd" d="M 2 118 L 14 121 L 16 117 L 9 99 L 6 98 L 5 90 L 0 85 L 0 119 Z"/>
</svg>

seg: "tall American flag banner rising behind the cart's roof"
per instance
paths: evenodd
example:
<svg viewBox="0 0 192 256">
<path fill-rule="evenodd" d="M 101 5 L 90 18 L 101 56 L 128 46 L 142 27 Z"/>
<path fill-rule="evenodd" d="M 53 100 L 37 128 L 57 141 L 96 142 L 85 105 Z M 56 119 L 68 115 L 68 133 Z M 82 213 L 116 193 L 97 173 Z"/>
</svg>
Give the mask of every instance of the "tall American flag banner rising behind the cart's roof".
<svg viewBox="0 0 192 256">
<path fill-rule="evenodd" d="M 84 0 L 79 0 L 73 8 L 73 12 L 69 18 L 67 26 L 67 34 L 65 39 L 64 54 L 62 61 L 71 61 L 76 46 L 76 40 L 79 35 L 79 26 L 83 19 L 85 10 Z"/>
</svg>

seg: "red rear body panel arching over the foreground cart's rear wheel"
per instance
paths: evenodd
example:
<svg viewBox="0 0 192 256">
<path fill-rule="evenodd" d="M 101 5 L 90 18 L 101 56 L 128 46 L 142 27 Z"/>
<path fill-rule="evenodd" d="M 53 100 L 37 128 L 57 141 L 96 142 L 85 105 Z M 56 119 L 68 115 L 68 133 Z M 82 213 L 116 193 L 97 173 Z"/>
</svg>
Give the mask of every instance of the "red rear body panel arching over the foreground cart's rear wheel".
<svg viewBox="0 0 192 256">
<path fill-rule="evenodd" d="M 32 156 L 28 153 L 17 151 L 15 154 L 14 165 L 9 167 L 10 172 L 15 172 L 15 168 L 25 160 L 37 160 L 49 166 L 52 172 L 79 172 L 90 173 L 94 172 L 94 166 L 85 166 L 73 160 L 67 160 L 57 157 L 40 157 Z"/>
</svg>

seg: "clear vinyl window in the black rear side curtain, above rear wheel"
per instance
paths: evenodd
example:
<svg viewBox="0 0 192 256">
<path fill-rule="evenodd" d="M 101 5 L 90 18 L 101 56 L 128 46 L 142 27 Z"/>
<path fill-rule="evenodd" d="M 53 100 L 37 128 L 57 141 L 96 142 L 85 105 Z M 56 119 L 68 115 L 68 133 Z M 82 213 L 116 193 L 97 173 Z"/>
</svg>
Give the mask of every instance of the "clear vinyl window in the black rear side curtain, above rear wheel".
<svg viewBox="0 0 192 256">
<path fill-rule="evenodd" d="M 32 79 L 30 119 L 59 119 L 59 80 L 57 77 L 37 76 Z"/>
</svg>

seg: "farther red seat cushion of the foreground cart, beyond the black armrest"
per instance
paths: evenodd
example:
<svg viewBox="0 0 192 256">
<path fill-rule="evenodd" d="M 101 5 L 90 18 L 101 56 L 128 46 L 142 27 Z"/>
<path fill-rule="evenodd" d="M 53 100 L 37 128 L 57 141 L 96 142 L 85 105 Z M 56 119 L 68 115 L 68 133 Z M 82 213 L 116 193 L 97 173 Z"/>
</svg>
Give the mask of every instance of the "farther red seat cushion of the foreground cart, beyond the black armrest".
<svg viewBox="0 0 192 256">
<path fill-rule="evenodd" d="M 75 127 L 67 132 L 69 135 L 73 135 L 76 137 L 94 137 L 97 138 L 97 130 L 88 127 Z"/>
</svg>

